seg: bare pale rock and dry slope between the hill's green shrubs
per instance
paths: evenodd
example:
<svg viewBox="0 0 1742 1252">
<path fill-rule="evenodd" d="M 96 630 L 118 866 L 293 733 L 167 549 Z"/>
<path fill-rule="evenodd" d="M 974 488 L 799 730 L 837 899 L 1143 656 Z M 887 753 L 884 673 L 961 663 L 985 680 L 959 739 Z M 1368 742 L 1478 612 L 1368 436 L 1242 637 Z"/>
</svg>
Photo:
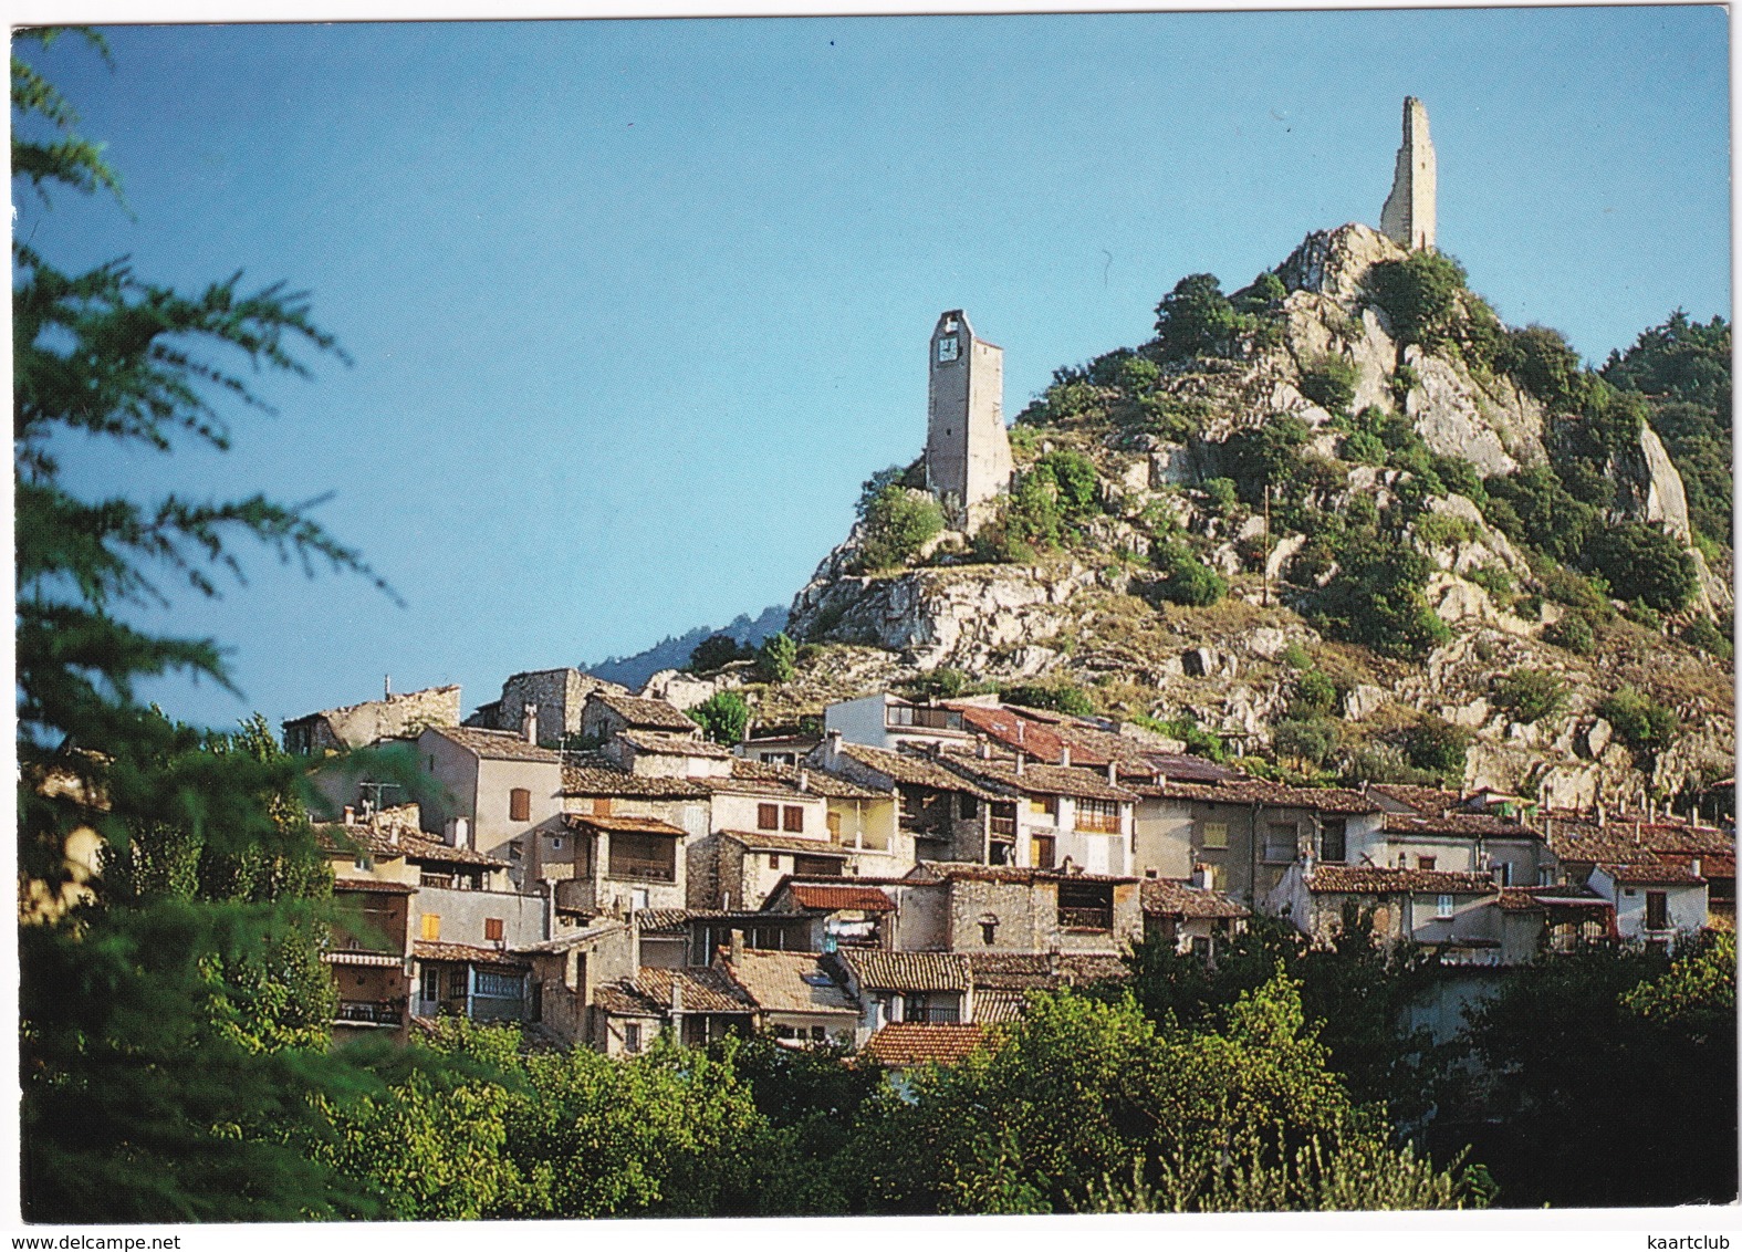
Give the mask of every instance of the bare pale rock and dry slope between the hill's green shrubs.
<svg viewBox="0 0 1742 1252">
<path fill-rule="evenodd" d="M 1279 656 L 1289 644 L 1303 644 L 1345 658 L 1340 712 L 1355 733 L 1420 714 L 1470 730 L 1472 785 L 1538 787 L 1554 803 L 1580 803 L 1599 792 L 1674 789 L 1697 770 L 1728 768 L 1728 676 L 1646 632 L 1592 658 L 1554 646 L 1561 608 L 1507 594 L 1507 585 L 1529 589 L 1535 575 L 1470 500 L 1430 498 L 1408 535 L 1434 566 L 1425 594 L 1453 632 L 1420 663 L 1320 639 L 1280 587 L 1289 578 L 1310 590 L 1329 578 L 1320 573 L 1303 583 L 1294 571 L 1305 538 L 1279 531 L 1266 542 L 1258 510 L 1211 505 L 1202 482 L 1226 472 L 1223 441 L 1282 414 L 1315 432 L 1305 451 L 1341 475 L 1317 488 L 1320 510 L 1347 510 L 1355 496 L 1385 507 L 1395 496 L 1399 470 L 1331 460 L 1340 434 L 1303 387 L 1306 369 L 1326 355 L 1355 366 L 1354 411 L 1378 406 L 1395 413 L 1401 404 L 1430 451 L 1462 456 L 1482 475 L 1547 456 L 1549 414 L 1535 397 L 1509 380 L 1472 376 L 1453 353 L 1415 345 L 1399 352 L 1385 310 L 1369 298 L 1367 275 L 1374 265 L 1404 256 L 1359 225 L 1308 235 L 1277 270 L 1287 296 L 1268 334 L 1251 336 L 1232 359 L 1164 371 L 1157 392 L 1195 416 L 1197 434 L 1186 442 L 1165 442 L 1118 421 L 1038 428 L 1019 451 L 1019 468 L 1049 449 L 1070 448 L 1099 472 L 1101 512 L 1080 524 L 1068 557 L 1031 566 L 970 564 L 963 536 L 946 535 L 920 555 L 918 568 L 866 576 L 848 573 L 862 540 L 855 528 L 791 606 L 794 637 L 834 644 L 817 662 L 833 667 L 819 698 L 859 695 L 848 690 L 854 683 L 887 684 L 942 665 L 995 681 L 1057 677 L 1101 691 L 1108 707 L 1160 717 L 1190 714 L 1233 737 L 1239 751 L 1259 751 L 1293 691 L 1293 674 Z M 1399 367 L 1406 367 L 1408 387 Z M 1613 475 L 1620 515 L 1664 524 L 1688 540 L 1681 477 L 1651 430 L 1641 432 L 1637 449 L 1617 458 Z M 1226 601 L 1183 609 L 1157 596 L 1146 557 L 1151 536 L 1169 524 L 1202 540 L 1207 559 L 1232 580 Z M 1711 601 L 1728 602 L 1721 578 L 1707 576 L 1707 583 Z M 852 660 L 845 669 L 841 656 Z M 1561 676 L 1570 691 L 1566 709 L 1526 726 L 1491 707 L 1496 679 L 1519 669 Z M 1678 707 L 1690 733 L 1674 751 L 1636 757 L 1596 717 L 1596 703 L 1620 683 L 1660 690 L 1664 702 Z M 801 679 L 773 698 L 782 710 L 801 710 L 803 691 Z"/>
</svg>

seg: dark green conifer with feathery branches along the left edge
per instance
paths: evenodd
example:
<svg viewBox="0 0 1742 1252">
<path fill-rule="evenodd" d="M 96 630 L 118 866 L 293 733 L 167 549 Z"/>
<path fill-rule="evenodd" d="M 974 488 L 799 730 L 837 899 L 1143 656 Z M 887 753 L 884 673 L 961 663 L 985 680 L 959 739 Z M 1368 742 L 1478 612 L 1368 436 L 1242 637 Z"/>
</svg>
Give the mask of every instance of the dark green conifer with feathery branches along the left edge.
<svg viewBox="0 0 1742 1252">
<path fill-rule="evenodd" d="M 17 56 L 12 106 L 16 178 L 38 192 L 118 185 L 101 146 L 71 132 L 71 106 Z M 213 737 L 141 707 L 139 679 L 228 688 L 228 676 L 216 643 L 122 620 L 167 604 L 171 582 L 214 596 L 240 573 L 244 538 L 305 568 L 368 573 L 303 510 L 265 496 L 124 495 L 131 458 L 226 448 L 219 406 L 265 407 L 251 374 L 307 374 L 301 352 L 340 353 L 280 286 L 249 293 L 233 277 L 185 296 L 124 261 L 66 273 L 21 240 L 12 261 L 21 902 L 66 899 L 71 832 L 105 841 L 89 899 L 19 926 L 24 1217 L 366 1212 L 348 1181 L 286 1142 L 314 1095 L 371 1081 L 361 1053 L 324 1052 L 329 879 L 301 811 L 301 764 L 258 721 Z M 92 495 L 63 479 L 56 451 L 71 442 L 91 453 L 78 479 Z"/>
</svg>

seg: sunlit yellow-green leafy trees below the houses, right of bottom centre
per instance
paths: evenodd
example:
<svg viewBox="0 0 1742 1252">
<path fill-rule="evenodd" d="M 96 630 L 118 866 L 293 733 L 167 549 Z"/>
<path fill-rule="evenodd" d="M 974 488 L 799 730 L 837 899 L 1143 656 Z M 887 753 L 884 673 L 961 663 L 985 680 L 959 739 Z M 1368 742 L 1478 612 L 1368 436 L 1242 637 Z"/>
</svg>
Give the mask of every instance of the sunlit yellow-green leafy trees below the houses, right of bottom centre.
<svg viewBox="0 0 1742 1252">
<path fill-rule="evenodd" d="M 913 1076 L 908 1099 L 869 1102 L 850 1148 L 864 1208 L 894 1214 L 1071 1212 L 1134 1196 L 1181 1212 L 1300 1208 L 1355 1172 L 1348 1153 L 1395 1170 L 1282 977 L 1200 1029 L 1157 1027 L 1129 1001 L 1035 996 L 995 1050 Z"/>
</svg>

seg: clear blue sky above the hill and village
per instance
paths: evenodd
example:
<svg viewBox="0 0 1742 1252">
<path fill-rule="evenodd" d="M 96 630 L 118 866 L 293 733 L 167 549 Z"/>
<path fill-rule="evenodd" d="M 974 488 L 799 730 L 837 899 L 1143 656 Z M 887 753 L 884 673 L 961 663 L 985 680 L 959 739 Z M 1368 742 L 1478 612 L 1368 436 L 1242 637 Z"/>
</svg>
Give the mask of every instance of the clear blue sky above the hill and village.
<svg viewBox="0 0 1742 1252">
<path fill-rule="evenodd" d="M 859 482 L 923 446 L 967 308 L 1005 409 L 1376 223 L 1401 104 L 1439 244 L 1512 324 L 1601 359 L 1730 313 L 1716 7 L 106 28 L 37 56 L 132 218 L 19 197 L 63 266 L 287 280 L 355 364 L 263 378 L 226 454 L 77 449 L 92 489 L 331 493 L 399 590 L 244 554 L 157 629 L 228 644 L 230 724 L 631 653 L 786 602 Z"/>
</svg>

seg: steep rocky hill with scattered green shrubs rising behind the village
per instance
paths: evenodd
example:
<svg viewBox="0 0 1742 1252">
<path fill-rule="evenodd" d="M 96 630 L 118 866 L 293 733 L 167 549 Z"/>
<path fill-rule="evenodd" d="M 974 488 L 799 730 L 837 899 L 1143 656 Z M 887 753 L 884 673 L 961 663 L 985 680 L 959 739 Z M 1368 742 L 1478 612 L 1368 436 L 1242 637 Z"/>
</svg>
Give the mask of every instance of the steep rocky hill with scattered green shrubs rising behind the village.
<svg viewBox="0 0 1742 1252">
<path fill-rule="evenodd" d="M 1056 373 L 976 533 L 885 488 L 793 601 L 798 677 L 723 676 L 760 723 L 1021 686 L 1287 777 L 1575 804 L 1732 771 L 1730 557 L 1643 397 L 1359 225 L 1183 280 L 1157 331 Z"/>
</svg>

